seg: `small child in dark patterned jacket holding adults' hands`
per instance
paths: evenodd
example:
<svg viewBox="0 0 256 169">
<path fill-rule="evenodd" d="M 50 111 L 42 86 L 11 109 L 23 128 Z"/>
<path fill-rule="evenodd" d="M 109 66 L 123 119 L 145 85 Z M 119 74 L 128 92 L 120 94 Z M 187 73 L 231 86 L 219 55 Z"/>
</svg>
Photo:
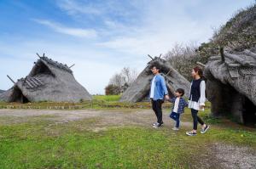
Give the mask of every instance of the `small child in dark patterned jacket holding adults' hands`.
<svg viewBox="0 0 256 169">
<path fill-rule="evenodd" d="M 188 103 L 182 98 L 184 95 L 183 88 L 178 88 L 175 91 L 175 98 L 170 99 L 170 101 L 173 103 L 172 107 L 172 113 L 170 114 L 170 117 L 176 121 L 175 127 L 172 128 L 172 130 L 179 130 L 179 118 L 180 115 L 184 112 L 184 108 L 188 106 Z"/>
</svg>

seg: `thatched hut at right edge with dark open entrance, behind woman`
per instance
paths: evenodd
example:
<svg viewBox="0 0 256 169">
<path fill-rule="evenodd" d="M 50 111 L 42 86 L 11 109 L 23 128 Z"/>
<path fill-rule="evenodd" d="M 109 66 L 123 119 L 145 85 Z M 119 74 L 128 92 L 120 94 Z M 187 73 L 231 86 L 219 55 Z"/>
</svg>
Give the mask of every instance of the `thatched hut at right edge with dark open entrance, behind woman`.
<svg viewBox="0 0 256 169">
<path fill-rule="evenodd" d="M 212 115 L 231 115 L 241 123 L 256 124 L 256 48 L 221 51 L 208 59 L 205 76 Z"/>
</svg>

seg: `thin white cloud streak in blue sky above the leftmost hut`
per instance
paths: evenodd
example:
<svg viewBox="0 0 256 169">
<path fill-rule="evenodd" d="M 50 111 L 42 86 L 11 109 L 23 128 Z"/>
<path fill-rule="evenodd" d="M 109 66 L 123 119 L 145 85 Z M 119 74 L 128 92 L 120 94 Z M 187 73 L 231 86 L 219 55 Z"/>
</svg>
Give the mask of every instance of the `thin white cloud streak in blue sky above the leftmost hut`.
<svg viewBox="0 0 256 169">
<path fill-rule="evenodd" d="M 64 25 L 57 24 L 49 20 L 38 20 L 34 19 L 38 24 L 46 25 L 56 32 L 71 35 L 74 37 L 97 37 L 97 33 L 93 29 L 81 29 L 81 28 L 71 28 Z"/>
</svg>

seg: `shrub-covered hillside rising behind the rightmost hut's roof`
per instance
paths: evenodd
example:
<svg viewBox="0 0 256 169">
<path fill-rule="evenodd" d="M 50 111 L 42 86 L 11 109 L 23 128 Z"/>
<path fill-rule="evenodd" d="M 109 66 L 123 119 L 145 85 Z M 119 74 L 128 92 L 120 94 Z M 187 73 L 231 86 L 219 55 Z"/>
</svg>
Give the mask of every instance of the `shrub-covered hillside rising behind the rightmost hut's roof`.
<svg viewBox="0 0 256 169">
<path fill-rule="evenodd" d="M 218 31 L 210 42 L 202 43 L 198 48 L 201 56 L 219 54 L 219 48 L 241 51 L 256 46 L 256 3 L 241 9 Z"/>
</svg>

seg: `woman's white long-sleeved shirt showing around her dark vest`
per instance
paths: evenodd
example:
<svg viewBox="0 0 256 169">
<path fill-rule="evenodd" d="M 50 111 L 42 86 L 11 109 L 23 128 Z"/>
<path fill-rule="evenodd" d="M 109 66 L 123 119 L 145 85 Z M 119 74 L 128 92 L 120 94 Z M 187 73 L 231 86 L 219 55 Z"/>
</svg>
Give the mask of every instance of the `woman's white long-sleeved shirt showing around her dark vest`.
<svg viewBox="0 0 256 169">
<path fill-rule="evenodd" d="M 192 83 L 190 85 L 190 92 L 191 92 L 191 86 Z M 189 95 L 190 95 L 189 92 Z M 206 82 L 205 81 L 201 81 L 200 83 L 200 98 L 198 100 L 198 102 L 192 101 L 193 96 L 191 95 L 191 100 L 189 100 L 189 109 L 194 109 L 194 110 L 204 110 L 204 109 L 200 109 L 201 105 L 205 105 L 206 102 Z"/>
</svg>

